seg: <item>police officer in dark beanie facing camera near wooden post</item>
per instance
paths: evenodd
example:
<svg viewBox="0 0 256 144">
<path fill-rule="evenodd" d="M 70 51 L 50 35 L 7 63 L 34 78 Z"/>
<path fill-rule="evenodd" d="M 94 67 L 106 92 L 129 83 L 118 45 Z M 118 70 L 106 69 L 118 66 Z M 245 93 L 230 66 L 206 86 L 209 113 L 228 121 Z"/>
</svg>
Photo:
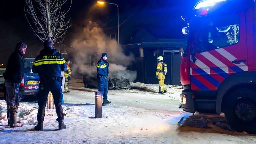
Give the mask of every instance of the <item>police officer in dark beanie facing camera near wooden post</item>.
<svg viewBox="0 0 256 144">
<path fill-rule="evenodd" d="M 97 67 L 97 82 L 99 83 L 99 91 L 101 96 L 103 95 L 102 106 L 110 104 L 108 101 L 108 62 L 107 62 L 107 53 L 102 53 L 101 59 L 98 61 Z"/>
</svg>

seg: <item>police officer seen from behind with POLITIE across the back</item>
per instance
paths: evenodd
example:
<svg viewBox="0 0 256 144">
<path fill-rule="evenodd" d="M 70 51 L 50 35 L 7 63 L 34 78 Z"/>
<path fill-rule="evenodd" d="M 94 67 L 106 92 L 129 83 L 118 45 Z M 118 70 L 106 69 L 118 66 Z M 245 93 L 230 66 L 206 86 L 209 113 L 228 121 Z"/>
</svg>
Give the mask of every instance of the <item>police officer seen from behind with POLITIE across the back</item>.
<svg viewBox="0 0 256 144">
<path fill-rule="evenodd" d="M 62 77 L 61 71 L 65 71 L 67 65 L 65 63 L 62 55 L 53 49 L 53 43 L 51 40 L 46 40 L 44 42 L 44 49 L 40 51 L 40 54 L 36 57 L 33 64 L 33 73 L 38 73 L 40 84 L 39 91 L 37 95 L 38 100 L 38 113 L 37 113 L 37 125 L 35 130 L 43 130 L 43 121 L 45 116 L 45 106 L 49 91 L 52 92 L 54 104 L 56 107 L 56 113 L 59 122 L 59 130 L 65 129 L 64 124 L 64 113 L 62 109 L 62 90 L 61 82 Z"/>
</svg>

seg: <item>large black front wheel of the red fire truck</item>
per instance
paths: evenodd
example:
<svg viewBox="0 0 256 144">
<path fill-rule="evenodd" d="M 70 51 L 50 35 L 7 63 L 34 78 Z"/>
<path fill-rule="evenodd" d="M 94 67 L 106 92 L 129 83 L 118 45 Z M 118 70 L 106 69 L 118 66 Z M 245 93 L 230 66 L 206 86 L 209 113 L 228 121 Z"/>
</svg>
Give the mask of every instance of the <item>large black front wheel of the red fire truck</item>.
<svg viewBox="0 0 256 144">
<path fill-rule="evenodd" d="M 233 91 L 226 99 L 225 117 L 237 132 L 256 134 L 255 95 L 255 91 L 243 88 Z"/>
</svg>

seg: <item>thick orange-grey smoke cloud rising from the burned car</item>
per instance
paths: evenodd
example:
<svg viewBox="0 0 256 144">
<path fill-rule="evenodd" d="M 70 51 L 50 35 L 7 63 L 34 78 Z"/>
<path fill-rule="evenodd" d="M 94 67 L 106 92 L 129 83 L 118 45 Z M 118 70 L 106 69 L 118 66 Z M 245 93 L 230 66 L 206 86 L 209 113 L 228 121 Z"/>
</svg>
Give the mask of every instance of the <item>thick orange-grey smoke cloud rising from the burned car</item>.
<svg viewBox="0 0 256 144">
<path fill-rule="evenodd" d="M 102 53 L 106 52 L 109 76 L 117 78 L 123 76 L 130 81 L 136 79 L 137 72 L 127 70 L 127 66 L 134 60 L 134 56 L 132 54 L 126 56 L 117 41 L 106 36 L 97 23 L 89 21 L 85 27 L 75 33 L 71 46 L 74 62 L 72 72 L 96 77 L 96 64 Z"/>
</svg>

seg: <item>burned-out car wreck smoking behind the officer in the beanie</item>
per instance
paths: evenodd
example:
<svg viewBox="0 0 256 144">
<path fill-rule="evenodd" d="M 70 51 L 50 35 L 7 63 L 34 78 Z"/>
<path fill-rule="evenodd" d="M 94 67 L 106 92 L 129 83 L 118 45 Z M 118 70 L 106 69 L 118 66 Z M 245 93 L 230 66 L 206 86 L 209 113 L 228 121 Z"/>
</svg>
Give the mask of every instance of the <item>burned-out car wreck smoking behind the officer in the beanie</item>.
<svg viewBox="0 0 256 144">
<path fill-rule="evenodd" d="M 88 88 L 99 88 L 99 84 L 97 82 L 97 78 L 91 77 L 88 75 L 83 75 L 83 83 L 84 87 Z M 125 77 L 121 77 L 121 79 L 110 76 L 108 78 L 108 89 L 122 89 L 122 88 L 130 88 L 130 82 Z"/>
</svg>

